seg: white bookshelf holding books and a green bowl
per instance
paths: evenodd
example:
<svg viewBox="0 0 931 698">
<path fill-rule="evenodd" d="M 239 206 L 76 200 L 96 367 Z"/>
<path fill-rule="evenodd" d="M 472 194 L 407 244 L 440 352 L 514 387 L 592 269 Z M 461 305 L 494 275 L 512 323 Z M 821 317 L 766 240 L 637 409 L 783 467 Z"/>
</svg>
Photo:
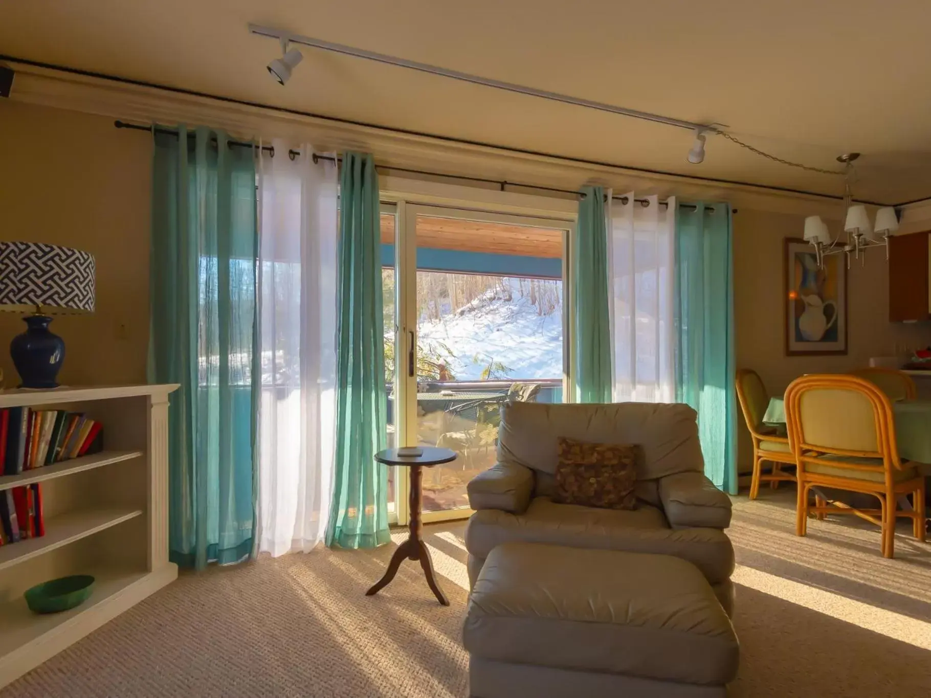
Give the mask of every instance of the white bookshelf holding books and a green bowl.
<svg viewBox="0 0 931 698">
<path fill-rule="evenodd" d="M 0 392 L 0 409 L 67 409 L 103 424 L 105 450 L 0 476 L 0 491 L 42 483 L 45 535 L 0 546 L 0 688 L 178 576 L 169 562 L 168 409 L 177 385 Z M 22 593 L 91 574 L 91 597 L 38 615 Z"/>
</svg>

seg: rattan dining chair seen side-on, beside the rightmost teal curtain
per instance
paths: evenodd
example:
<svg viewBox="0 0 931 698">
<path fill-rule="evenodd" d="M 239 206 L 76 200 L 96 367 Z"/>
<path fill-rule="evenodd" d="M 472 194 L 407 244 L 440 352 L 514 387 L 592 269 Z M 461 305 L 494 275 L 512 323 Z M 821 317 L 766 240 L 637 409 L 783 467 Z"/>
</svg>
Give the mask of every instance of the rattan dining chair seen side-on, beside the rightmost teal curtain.
<svg viewBox="0 0 931 698">
<path fill-rule="evenodd" d="M 764 426 L 762 416 L 769 406 L 769 394 L 755 370 L 739 369 L 736 375 L 737 399 L 744 413 L 744 421 L 753 439 L 753 476 L 750 479 L 750 499 L 760 493 L 760 482 L 769 482 L 774 490 L 780 482 L 795 482 L 795 476 L 784 473 L 782 465 L 795 465 L 795 456 L 789 448 L 789 438 L 778 436 L 774 427 Z M 769 473 L 762 472 L 762 462 L 773 464 Z"/>
</svg>

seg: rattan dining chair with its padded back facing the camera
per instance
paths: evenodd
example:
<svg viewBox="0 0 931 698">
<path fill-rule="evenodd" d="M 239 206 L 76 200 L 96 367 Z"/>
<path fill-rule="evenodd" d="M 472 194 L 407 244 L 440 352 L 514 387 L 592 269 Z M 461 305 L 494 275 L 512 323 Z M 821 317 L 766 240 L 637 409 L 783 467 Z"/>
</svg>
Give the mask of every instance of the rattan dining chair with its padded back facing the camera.
<svg viewBox="0 0 931 698">
<path fill-rule="evenodd" d="M 854 514 L 880 526 L 882 553 L 893 557 L 896 520 L 911 518 L 912 532 L 924 542 L 924 477 L 912 463 L 902 463 L 889 397 L 857 376 L 803 376 L 786 390 L 789 444 L 798 469 L 795 532 L 803 536 L 808 514 Z M 820 497 L 808 501 L 813 487 L 871 494 L 878 509 L 856 509 Z M 911 511 L 897 510 L 897 497 L 911 494 Z M 878 517 L 878 518 L 877 518 Z"/>
</svg>

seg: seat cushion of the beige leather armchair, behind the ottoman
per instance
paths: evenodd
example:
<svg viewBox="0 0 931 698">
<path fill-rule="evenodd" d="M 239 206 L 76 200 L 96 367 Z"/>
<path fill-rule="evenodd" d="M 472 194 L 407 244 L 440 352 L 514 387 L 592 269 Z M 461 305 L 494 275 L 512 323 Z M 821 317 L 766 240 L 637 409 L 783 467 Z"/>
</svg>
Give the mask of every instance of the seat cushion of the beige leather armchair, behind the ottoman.
<svg viewBox="0 0 931 698">
<path fill-rule="evenodd" d="M 672 555 L 693 563 L 711 584 L 734 571 L 734 546 L 724 531 L 670 529 L 662 511 L 649 504 L 625 511 L 534 497 L 523 514 L 484 509 L 468 521 L 466 549 L 475 557 L 488 557 L 497 545 L 513 542 Z"/>
</svg>

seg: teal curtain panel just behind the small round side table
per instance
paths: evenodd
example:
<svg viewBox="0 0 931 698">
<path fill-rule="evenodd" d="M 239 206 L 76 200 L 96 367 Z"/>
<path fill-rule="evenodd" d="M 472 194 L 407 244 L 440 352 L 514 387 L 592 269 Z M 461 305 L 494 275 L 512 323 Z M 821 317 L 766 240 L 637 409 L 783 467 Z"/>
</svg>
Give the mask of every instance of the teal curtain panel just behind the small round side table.
<svg viewBox="0 0 931 698">
<path fill-rule="evenodd" d="M 378 174 L 371 154 L 345 153 L 337 250 L 336 467 L 327 545 L 388 543 L 385 331 Z"/>
</svg>

